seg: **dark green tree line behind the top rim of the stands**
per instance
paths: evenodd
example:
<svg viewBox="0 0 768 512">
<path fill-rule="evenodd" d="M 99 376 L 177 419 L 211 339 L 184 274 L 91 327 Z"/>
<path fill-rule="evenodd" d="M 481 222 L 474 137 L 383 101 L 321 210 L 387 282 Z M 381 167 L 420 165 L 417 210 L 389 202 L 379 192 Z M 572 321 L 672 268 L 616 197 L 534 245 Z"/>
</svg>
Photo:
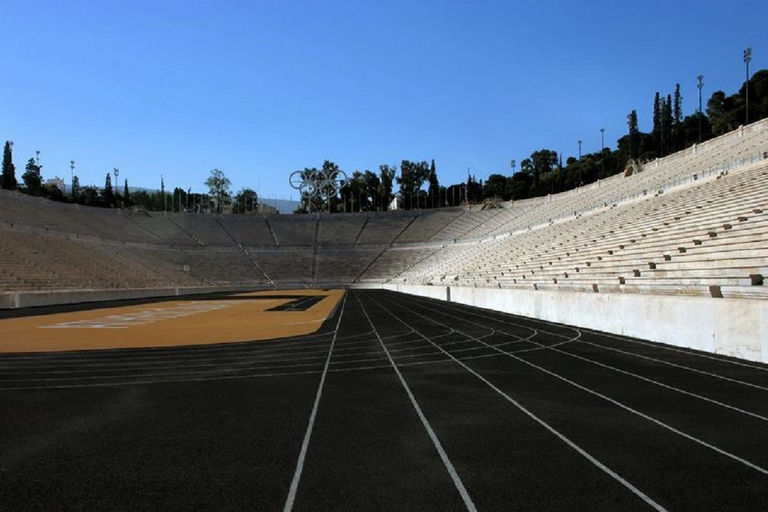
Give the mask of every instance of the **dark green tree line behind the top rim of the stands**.
<svg viewBox="0 0 768 512">
<path fill-rule="evenodd" d="M 701 109 L 696 108 L 694 113 L 683 116 L 680 84 L 675 84 L 671 92 L 654 94 L 650 111 L 653 124 L 649 133 L 638 128 L 637 110 L 629 113 L 627 133 L 617 140 L 616 149 L 603 147 L 597 152 L 579 154 L 578 158 L 569 156 L 563 162 L 562 154 L 543 148 L 523 159 L 519 170 L 513 160 L 511 175 L 492 173 L 485 180 L 478 180 L 468 173 L 466 181 L 448 186 L 440 185 L 434 160 L 402 160 L 399 169 L 397 165 L 384 164 L 379 166 L 378 172 L 355 170 L 347 179 L 338 181 L 339 166 L 326 160 L 320 169 L 304 168 L 300 174 L 314 177 L 318 186 L 324 184 L 327 188 L 331 182 L 337 185 L 303 194 L 296 213 L 386 211 L 393 206 L 400 209 L 440 208 L 519 200 L 571 190 L 623 172 L 630 160 L 643 162 L 661 158 L 734 130 L 747 119 L 752 122 L 765 119 L 768 117 L 768 70 L 756 72 L 733 94 L 715 91 L 706 102 L 706 110 L 702 105 Z M 205 181 L 208 194 L 192 193 L 179 187 L 166 192 L 162 179 L 160 191 L 132 190 L 127 180 L 120 191 L 113 187 L 109 172 L 101 189 L 81 187 L 74 176 L 70 191 L 65 194 L 56 185 L 43 184 L 39 154 L 38 159 L 27 161 L 21 183 L 15 173 L 12 143 L 6 142 L 0 176 L 0 186 L 4 189 L 106 208 L 218 213 L 259 211 L 256 191 L 243 188 L 233 194 L 230 180 L 219 169 L 213 169 Z"/>
</svg>

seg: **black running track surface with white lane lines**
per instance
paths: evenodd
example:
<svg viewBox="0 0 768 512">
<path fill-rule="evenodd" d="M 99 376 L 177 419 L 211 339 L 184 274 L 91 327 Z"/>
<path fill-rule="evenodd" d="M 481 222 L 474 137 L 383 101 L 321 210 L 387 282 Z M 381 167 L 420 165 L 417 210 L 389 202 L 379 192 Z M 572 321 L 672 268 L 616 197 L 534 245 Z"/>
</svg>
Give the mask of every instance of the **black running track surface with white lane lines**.
<svg viewBox="0 0 768 512">
<path fill-rule="evenodd" d="M 311 336 L 0 355 L 0 510 L 653 508 L 768 508 L 768 367 L 380 291 Z"/>
</svg>

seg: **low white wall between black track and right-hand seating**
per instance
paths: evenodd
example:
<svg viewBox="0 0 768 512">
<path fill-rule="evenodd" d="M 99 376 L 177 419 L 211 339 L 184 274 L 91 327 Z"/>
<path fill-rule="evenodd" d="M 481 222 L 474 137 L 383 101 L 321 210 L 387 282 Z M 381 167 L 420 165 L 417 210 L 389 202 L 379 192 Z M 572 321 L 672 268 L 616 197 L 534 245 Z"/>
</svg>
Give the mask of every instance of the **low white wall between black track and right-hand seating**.
<svg viewBox="0 0 768 512">
<path fill-rule="evenodd" d="M 381 288 L 768 363 L 768 302 L 672 295 Z"/>
</svg>

